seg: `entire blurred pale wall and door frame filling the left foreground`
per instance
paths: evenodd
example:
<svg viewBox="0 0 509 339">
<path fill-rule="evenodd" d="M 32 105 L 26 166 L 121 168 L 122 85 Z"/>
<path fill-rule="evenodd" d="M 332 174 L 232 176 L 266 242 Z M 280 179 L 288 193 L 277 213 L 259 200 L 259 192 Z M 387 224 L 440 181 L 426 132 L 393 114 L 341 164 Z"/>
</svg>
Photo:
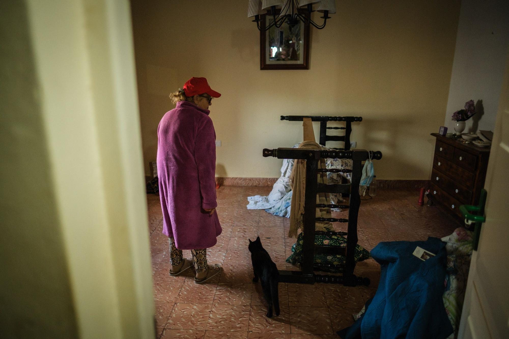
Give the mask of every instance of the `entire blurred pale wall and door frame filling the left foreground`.
<svg viewBox="0 0 509 339">
<path fill-rule="evenodd" d="M 154 337 L 130 18 L 0 2 L 0 338 Z"/>
</svg>

